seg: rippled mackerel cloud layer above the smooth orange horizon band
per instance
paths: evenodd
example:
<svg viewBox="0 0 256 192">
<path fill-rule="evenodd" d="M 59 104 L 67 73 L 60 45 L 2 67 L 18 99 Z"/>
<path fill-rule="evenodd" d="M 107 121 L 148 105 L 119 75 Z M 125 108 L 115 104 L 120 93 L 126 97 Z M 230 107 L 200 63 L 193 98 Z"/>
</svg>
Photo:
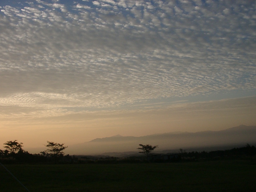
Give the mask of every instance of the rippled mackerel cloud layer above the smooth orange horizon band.
<svg viewBox="0 0 256 192">
<path fill-rule="evenodd" d="M 0 52 L 4 122 L 245 97 L 255 109 L 254 1 L 1 1 Z"/>
</svg>

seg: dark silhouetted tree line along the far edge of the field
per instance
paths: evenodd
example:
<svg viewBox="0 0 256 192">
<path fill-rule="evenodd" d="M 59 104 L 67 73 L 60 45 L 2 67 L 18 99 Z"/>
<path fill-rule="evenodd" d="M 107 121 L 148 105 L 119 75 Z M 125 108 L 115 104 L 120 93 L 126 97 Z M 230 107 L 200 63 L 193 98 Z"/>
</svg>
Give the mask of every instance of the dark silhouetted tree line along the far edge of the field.
<svg viewBox="0 0 256 192">
<path fill-rule="evenodd" d="M 5 150 L 0 149 L 0 162 L 4 164 L 9 163 L 139 163 L 150 162 L 152 156 L 159 156 L 160 154 L 151 154 L 151 152 L 158 146 L 151 146 L 149 144 L 139 144 L 139 153 L 145 154 L 146 158 L 142 156 L 130 156 L 125 158 L 119 157 L 96 157 L 96 156 L 70 156 L 64 154 L 64 150 L 68 147 L 64 143 L 55 143 L 47 141 L 44 145 L 46 150 L 38 154 L 30 154 L 28 151 L 23 150 L 23 143 L 17 140 L 10 140 L 4 143 Z M 166 154 L 161 154 L 166 155 Z M 256 148 L 247 144 L 245 147 L 233 148 L 229 150 L 217 150 L 210 152 L 186 152 L 183 149 L 175 155 L 174 159 L 163 160 L 159 158 L 155 162 L 177 162 L 177 161 L 196 161 L 196 160 L 215 160 L 215 159 L 236 159 L 236 158 L 249 158 L 256 162 Z"/>
</svg>

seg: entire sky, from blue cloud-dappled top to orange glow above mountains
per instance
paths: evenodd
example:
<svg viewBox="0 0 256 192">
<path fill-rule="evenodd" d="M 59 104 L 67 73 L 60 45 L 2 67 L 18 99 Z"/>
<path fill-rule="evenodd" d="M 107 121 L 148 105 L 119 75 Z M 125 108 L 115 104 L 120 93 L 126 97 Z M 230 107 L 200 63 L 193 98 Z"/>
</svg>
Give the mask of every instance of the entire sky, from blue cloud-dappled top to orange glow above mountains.
<svg viewBox="0 0 256 192">
<path fill-rule="evenodd" d="M 0 143 L 256 125 L 255 1 L 5 0 L 0 52 Z"/>
</svg>

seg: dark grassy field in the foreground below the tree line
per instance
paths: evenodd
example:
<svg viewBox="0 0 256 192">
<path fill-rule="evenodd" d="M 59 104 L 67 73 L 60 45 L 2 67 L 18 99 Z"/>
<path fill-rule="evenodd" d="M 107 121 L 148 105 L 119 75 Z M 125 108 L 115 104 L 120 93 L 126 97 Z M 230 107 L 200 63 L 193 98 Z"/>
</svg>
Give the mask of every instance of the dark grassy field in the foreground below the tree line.
<svg viewBox="0 0 256 192">
<path fill-rule="evenodd" d="M 254 191 L 256 164 L 205 161 L 140 164 L 9 164 L 30 192 Z M 26 191 L 0 165 L 0 192 Z"/>
</svg>

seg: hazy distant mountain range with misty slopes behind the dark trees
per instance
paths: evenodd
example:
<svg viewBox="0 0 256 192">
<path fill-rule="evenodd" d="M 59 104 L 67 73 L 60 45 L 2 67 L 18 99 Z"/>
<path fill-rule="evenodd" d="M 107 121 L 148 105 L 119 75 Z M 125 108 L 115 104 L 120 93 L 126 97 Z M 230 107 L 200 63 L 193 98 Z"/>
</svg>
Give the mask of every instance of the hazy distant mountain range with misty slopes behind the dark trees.
<svg viewBox="0 0 256 192">
<path fill-rule="evenodd" d="M 66 154 L 111 155 L 138 153 L 139 144 L 158 145 L 155 152 L 178 152 L 180 148 L 192 150 L 223 150 L 256 144 L 256 126 L 239 125 L 222 131 L 168 132 L 141 137 L 115 135 L 71 145 Z M 116 155 L 114 155 L 116 154 Z"/>
</svg>

